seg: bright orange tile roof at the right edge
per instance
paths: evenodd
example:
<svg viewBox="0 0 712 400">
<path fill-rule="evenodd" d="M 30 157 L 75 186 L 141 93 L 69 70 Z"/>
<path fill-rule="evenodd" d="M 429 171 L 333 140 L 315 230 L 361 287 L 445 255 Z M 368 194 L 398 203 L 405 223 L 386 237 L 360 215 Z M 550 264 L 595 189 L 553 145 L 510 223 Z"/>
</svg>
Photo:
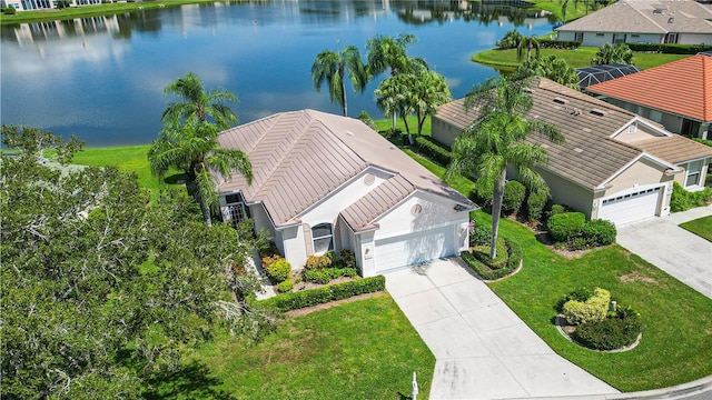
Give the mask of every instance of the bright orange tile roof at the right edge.
<svg viewBox="0 0 712 400">
<path fill-rule="evenodd" d="M 586 90 L 703 122 L 712 121 L 712 57 L 688 57 L 592 84 Z"/>
</svg>

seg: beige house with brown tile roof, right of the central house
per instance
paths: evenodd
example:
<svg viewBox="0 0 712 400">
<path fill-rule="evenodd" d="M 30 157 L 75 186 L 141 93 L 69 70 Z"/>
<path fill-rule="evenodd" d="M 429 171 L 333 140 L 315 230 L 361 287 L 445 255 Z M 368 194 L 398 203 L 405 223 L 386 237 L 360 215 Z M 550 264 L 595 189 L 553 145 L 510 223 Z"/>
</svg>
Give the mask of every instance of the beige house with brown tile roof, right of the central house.
<svg viewBox="0 0 712 400">
<path fill-rule="evenodd" d="M 623 224 L 669 214 L 673 181 L 689 190 L 704 186 L 712 148 L 548 79 L 538 79 L 532 99 L 526 118 L 554 124 L 566 138 L 564 144 L 527 138 L 548 152 L 540 173 L 554 202 Z M 474 118 L 464 99 L 441 106 L 433 138 L 449 146 Z"/>
</svg>

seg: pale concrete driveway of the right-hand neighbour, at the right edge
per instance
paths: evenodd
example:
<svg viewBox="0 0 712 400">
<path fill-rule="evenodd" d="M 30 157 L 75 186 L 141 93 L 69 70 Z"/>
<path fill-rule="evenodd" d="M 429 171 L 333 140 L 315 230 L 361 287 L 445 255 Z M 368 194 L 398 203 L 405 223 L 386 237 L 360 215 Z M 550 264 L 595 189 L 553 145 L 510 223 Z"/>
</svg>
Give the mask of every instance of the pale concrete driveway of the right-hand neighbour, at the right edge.
<svg viewBox="0 0 712 400">
<path fill-rule="evenodd" d="M 712 206 L 619 228 L 617 242 L 645 261 L 712 298 L 712 243 L 679 227 L 712 216 Z"/>
</svg>

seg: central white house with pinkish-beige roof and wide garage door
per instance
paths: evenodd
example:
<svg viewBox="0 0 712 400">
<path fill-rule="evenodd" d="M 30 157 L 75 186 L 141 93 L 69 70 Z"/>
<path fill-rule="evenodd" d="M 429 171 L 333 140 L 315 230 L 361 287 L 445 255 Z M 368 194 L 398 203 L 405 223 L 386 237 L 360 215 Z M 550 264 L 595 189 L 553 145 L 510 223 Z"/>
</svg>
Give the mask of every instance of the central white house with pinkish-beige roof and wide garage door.
<svg viewBox="0 0 712 400">
<path fill-rule="evenodd" d="M 246 152 L 253 183 L 218 177 L 225 220 L 253 218 L 293 269 L 350 249 L 364 277 L 468 246 L 476 206 L 357 119 L 281 112 L 220 133 Z"/>
</svg>

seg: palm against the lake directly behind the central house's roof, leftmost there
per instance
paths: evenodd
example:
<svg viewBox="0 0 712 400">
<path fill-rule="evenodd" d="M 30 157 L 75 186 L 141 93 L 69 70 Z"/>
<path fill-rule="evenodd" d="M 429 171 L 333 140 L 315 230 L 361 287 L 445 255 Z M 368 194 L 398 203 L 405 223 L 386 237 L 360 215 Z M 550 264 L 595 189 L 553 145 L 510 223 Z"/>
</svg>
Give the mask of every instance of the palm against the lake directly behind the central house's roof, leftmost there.
<svg viewBox="0 0 712 400">
<path fill-rule="evenodd" d="M 322 83 L 326 80 L 329 84 L 332 102 L 342 106 L 344 117 L 347 116 L 346 82 L 344 81 L 347 69 L 354 92 L 363 92 L 368 82 L 368 74 L 355 46 L 348 46 L 342 51 L 322 51 L 312 66 L 312 79 L 316 91 L 322 89 Z"/>
</svg>

